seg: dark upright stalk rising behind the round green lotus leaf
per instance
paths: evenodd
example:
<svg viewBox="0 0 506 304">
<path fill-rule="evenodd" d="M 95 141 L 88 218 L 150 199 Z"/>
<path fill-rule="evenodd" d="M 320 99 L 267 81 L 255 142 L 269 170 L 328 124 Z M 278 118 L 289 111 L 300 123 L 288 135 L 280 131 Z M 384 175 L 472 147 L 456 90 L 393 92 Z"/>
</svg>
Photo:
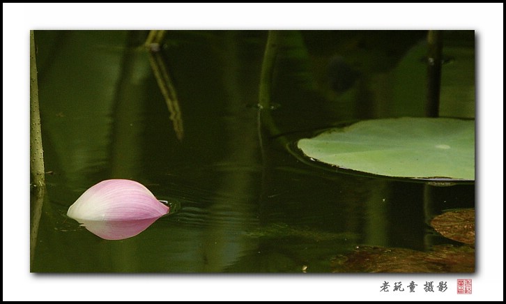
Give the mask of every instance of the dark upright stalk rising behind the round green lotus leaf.
<svg viewBox="0 0 506 304">
<path fill-rule="evenodd" d="M 427 117 L 439 116 L 439 92 L 441 86 L 441 61 L 443 50 L 443 33 L 441 31 L 429 31 L 427 35 L 429 50 L 427 52 Z"/>
</svg>

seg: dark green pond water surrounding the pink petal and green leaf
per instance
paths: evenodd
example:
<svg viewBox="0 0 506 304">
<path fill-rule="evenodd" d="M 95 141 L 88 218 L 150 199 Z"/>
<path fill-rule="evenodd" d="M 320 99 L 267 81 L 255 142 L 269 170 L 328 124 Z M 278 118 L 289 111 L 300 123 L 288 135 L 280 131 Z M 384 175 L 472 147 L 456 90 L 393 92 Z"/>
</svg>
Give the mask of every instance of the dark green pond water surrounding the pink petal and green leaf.
<svg viewBox="0 0 506 304">
<path fill-rule="evenodd" d="M 266 31 L 169 31 L 162 53 L 181 141 L 141 46 L 146 31 L 35 35 L 50 173 L 33 272 L 329 272 L 357 245 L 450 243 L 427 222 L 475 204 L 474 185 L 330 172 L 277 140 L 423 116 L 424 31 L 285 31 L 273 73 L 276 135 L 259 132 L 255 106 Z M 443 54 L 440 115 L 473 118 L 473 31 L 447 32 Z M 109 178 L 143 183 L 174 212 L 123 241 L 66 218 L 84 190 Z"/>
</svg>

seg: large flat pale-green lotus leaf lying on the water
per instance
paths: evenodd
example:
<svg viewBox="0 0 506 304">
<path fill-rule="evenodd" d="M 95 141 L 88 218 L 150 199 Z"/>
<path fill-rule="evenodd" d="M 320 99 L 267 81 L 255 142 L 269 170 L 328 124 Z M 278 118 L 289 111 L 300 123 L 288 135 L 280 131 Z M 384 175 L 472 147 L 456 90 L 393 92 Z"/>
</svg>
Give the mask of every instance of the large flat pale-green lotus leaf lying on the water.
<svg viewBox="0 0 506 304">
<path fill-rule="evenodd" d="M 383 176 L 475 179 L 475 121 L 374 119 L 332 129 L 298 148 L 326 164 Z"/>
</svg>

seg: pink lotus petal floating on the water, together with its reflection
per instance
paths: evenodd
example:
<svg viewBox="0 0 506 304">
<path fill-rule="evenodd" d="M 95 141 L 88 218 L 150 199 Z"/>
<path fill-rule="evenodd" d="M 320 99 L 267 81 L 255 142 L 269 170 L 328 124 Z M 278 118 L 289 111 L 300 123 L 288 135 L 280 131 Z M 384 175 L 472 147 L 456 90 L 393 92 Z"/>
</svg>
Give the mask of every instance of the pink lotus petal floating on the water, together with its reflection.
<svg viewBox="0 0 506 304">
<path fill-rule="evenodd" d="M 67 215 L 91 233 L 106 240 L 137 236 L 155 220 L 169 213 L 169 207 L 137 181 L 109 179 L 86 190 Z"/>
</svg>

